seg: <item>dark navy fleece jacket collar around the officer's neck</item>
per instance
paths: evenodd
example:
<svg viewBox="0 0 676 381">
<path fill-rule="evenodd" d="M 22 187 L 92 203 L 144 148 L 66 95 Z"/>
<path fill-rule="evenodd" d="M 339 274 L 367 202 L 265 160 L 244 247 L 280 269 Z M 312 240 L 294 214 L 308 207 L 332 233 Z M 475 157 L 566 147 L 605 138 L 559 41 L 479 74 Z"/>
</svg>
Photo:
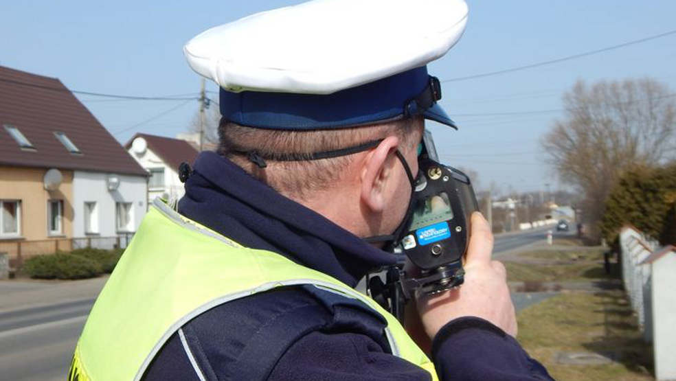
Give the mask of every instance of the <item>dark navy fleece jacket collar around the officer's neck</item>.
<svg viewBox="0 0 676 381">
<path fill-rule="evenodd" d="M 352 287 L 396 262 L 315 211 L 286 198 L 215 152 L 202 152 L 179 212 L 252 249 L 280 253 Z"/>
</svg>

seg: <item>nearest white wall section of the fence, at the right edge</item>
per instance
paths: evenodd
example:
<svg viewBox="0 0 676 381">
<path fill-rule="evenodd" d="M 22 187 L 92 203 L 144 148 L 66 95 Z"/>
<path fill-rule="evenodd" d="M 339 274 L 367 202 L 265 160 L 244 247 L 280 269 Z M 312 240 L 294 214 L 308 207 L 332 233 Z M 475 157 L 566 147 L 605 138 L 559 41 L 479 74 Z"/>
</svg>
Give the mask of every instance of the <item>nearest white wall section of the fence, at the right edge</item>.
<svg viewBox="0 0 676 381">
<path fill-rule="evenodd" d="M 676 380 L 676 253 L 651 264 L 655 378 Z"/>
</svg>

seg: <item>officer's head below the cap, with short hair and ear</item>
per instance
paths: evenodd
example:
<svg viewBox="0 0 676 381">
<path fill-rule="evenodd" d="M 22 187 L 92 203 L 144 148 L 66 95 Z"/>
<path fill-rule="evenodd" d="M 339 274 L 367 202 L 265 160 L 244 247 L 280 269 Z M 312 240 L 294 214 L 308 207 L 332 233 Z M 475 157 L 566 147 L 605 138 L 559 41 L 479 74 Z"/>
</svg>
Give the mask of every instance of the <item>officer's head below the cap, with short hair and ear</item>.
<svg viewBox="0 0 676 381">
<path fill-rule="evenodd" d="M 389 234 L 403 220 L 411 184 L 396 152 L 413 176 L 423 132 L 423 118 L 331 130 L 251 128 L 223 119 L 218 152 L 252 176 L 321 213 L 360 236 Z M 362 152 L 318 160 L 277 161 L 285 154 L 312 154 L 381 140 Z M 241 152 L 266 157 L 260 168 Z"/>
</svg>

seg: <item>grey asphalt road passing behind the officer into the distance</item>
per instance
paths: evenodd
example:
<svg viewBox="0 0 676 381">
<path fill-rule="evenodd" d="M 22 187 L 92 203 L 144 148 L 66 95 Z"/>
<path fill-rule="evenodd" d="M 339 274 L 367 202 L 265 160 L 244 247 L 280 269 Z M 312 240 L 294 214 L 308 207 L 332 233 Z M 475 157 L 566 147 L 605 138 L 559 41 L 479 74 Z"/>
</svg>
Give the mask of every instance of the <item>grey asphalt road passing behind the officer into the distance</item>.
<svg viewBox="0 0 676 381">
<path fill-rule="evenodd" d="M 494 257 L 545 240 L 546 230 L 497 235 Z M 0 380 L 64 380 L 94 298 L 0 310 Z"/>
</svg>

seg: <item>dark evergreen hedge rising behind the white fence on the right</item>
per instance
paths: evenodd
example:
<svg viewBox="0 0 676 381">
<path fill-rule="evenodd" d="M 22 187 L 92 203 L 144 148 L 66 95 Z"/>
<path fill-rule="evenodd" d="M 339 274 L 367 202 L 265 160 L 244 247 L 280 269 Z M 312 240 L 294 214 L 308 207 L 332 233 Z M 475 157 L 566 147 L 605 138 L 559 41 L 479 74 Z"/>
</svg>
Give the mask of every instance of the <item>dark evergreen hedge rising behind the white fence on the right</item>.
<svg viewBox="0 0 676 381">
<path fill-rule="evenodd" d="M 676 163 L 660 168 L 635 167 L 611 189 L 600 228 L 607 242 L 631 224 L 643 233 L 676 244 Z"/>
</svg>

